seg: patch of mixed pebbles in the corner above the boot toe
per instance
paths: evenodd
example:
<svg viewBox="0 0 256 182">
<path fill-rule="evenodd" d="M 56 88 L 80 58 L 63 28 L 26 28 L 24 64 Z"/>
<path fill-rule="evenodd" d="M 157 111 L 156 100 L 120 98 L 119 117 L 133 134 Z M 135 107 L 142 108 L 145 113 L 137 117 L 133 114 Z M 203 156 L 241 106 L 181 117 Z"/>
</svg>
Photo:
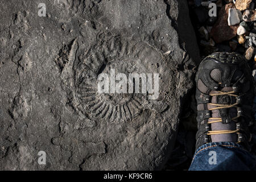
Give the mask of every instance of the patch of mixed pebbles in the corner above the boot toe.
<svg viewBox="0 0 256 182">
<path fill-rule="evenodd" d="M 256 65 L 256 0 L 189 1 L 197 17 L 202 57 L 216 51 L 234 51 L 245 55 L 246 60 L 254 57 Z M 212 2 L 218 7 L 218 15 L 209 17 Z"/>
</svg>

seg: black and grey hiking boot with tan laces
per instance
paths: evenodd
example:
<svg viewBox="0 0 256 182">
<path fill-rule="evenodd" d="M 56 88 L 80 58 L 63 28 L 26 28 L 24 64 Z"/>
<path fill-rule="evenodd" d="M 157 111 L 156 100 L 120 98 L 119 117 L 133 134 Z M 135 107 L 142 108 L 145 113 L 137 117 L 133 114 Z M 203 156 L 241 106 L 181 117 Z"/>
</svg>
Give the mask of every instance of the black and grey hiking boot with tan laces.
<svg viewBox="0 0 256 182">
<path fill-rule="evenodd" d="M 237 53 L 206 57 L 196 74 L 196 148 L 210 142 L 237 142 L 248 149 L 254 124 L 250 68 Z"/>
</svg>

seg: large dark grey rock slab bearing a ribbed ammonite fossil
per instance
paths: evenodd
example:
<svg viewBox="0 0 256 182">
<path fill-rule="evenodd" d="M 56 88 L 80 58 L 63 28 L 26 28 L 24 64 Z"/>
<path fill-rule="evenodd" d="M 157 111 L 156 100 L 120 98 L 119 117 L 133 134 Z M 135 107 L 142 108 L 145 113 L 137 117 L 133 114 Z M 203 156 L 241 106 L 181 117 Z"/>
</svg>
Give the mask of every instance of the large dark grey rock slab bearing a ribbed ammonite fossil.
<svg viewBox="0 0 256 182">
<path fill-rule="evenodd" d="M 185 0 L 10 0 L 0 15 L 1 170 L 163 168 L 200 61 Z M 159 73 L 158 99 L 99 94 L 110 68 Z"/>
</svg>

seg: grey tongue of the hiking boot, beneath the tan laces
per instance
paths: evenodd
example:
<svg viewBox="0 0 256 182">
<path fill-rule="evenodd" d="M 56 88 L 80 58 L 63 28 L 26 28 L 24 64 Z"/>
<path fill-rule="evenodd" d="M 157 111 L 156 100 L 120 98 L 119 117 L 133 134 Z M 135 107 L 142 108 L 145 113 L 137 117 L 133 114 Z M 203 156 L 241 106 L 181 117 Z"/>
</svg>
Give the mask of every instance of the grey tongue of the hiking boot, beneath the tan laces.
<svg viewBox="0 0 256 182">
<path fill-rule="evenodd" d="M 232 91 L 232 87 L 225 87 L 221 91 L 222 92 L 230 92 Z M 211 91 L 210 94 L 218 93 L 217 91 Z M 226 95 L 224 95 L 226 96 Z M 219 98 L 218 98 L 219 97 Z M 229 96 L 228 96 L 229 97 Z M 223 99 L 222 103 L 219 103 L 218 100 L 220 100 L 220 96 L 213 96 L 212 97 L 212 103 L 213 104 L 225 104 L 223 102 L 228 102 L 226 104 L 229 104 L 228 97 L 221 97 Z M 230 101 L 231 102 L 231 101 Z M 216 106 L 208 105 L 208 109 L 214 108 Z M 237 109 L 235 107 L 229 108 L 229 114 L 230 117 L 236 117 L 237 116 Z M 221 118 L 220 110 L 215 109 L 212 110 L 212 118 Z M 216 119 L 209 119 L 209 121 L 216 121 Z M 231 121 L 230 123 L 212 123 L 211 124 L 211 130 L 236 130 L 236 123 Z M 212 142 L 237 142 L 237 134 L 217 134 L 217 135 L 210 135 Z"/>
</svg>

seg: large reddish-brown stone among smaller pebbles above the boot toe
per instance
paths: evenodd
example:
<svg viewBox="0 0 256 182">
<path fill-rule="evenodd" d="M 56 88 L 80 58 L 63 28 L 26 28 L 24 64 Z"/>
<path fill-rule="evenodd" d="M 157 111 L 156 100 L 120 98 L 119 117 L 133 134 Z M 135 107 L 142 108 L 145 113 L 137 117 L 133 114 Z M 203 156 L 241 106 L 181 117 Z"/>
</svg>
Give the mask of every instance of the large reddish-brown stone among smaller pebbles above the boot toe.
<svg viewBox="0 0 256 182">
<path fill-rule="evenodd" d="M 233 3 L 229 3 L 223 6 L 218 13 L 218 20 L 214 24 L 210 36 L 216 43 L 221 43 L 225 40 L 230 40 L 234 38 L 237 34 L 238 26 L 229 26 L 228 25 L 228 15 L 229 9 L 235 8 Z"/>
</svg>

